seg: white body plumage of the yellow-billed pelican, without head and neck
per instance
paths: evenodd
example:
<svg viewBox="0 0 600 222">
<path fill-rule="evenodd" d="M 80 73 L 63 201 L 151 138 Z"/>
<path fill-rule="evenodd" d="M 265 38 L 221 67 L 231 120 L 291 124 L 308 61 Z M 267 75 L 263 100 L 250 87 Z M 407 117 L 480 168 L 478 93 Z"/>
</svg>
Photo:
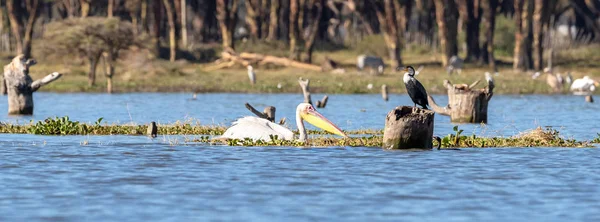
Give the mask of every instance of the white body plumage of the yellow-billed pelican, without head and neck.
<svg viewBox="0 0 600 222">
<path fill-rule="evenodd" d="M 271 141 L 271 135 L 277 136 L 279 139 L 294 139 L 294 132 L 291 130 L 254 116 L 242 117 L 233 122 L 232 126 L 221 137 Z"/>
</svg>

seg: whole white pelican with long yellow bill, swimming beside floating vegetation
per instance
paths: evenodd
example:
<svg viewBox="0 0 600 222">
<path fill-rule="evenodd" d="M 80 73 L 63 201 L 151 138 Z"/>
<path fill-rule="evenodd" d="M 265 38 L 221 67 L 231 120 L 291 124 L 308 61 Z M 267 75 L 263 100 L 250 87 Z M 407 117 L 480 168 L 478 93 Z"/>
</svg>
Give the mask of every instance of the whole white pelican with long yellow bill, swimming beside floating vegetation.
<svg viewBox="0 0 600 222">
<path fill-rule="evenodd" d="M 300 131 L 298 140 L 301 142 L 306 142 L 308 137 L 303 120 L 327 132 L 348 137 L 340 128 L 317 112 L 312 105 L 309 103 L 300 103 L 296 107 L 296 125 L 298 126 L 298 131 Z M 294 140 L 294 133 L 291 130 L 254 116 L 246 116 L 238 119 L 218 139 L 250 138 L 254 141 L 271 141 L 271 135 L 277 136 L 279 139 Z"/>
</svg>

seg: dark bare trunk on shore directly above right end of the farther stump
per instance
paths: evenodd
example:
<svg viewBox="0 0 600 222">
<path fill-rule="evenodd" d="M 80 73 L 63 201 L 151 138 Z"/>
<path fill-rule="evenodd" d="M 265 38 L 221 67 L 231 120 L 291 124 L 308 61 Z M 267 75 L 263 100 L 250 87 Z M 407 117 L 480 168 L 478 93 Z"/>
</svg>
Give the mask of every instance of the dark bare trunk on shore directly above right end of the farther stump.
<svg viewBox="0 0 600 222">
<path fill-rule="evenodd" d="M 496 8 L 498 7 L 498 0 L 483 0 L 481 4 L 483 8 L 484 31 L 486 41 L 485 48 L 483 49 L 484 63 L 487 63 L 490 68 L 496 70 L 496 58 L 494 57 L 494 29 L 496 26 Z"/>
</svg>

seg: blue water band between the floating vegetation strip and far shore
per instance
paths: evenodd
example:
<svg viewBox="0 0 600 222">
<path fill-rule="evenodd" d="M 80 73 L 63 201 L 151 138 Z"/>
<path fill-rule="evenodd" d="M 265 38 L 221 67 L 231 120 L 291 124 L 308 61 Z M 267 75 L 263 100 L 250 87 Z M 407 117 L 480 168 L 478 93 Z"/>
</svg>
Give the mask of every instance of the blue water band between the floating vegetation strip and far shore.
<svg viewBox="0 0 600 222">
<path fill-rule="evenodd" d="M 300 94 L 199 94 L 189 100 L 184 93 L 133 94 L 56 94 L 36 93 L 33 117 L 6 115 L 6 103 L 0 103 L 0 121 L 28 123 L 47 117 L 69 116 L 72 120 L 95 122 L 104 117 L 108 123 L 138 123 L 151 121 L 172 123 L 193 119 L 201 124 L 229 126 L 235 119 L 251 115 L 244 107 L 249 102 L 257 109 L 272 105 L 277 118 L 294 118 Z M 313 100 L 323 95 L 314 94 Z M 445 105 L 446 96 L 434 96 Z M 391 95 L 384 102 L 380 95 L 329 95 L 327 108 L 319 111 L 342 129 L 382 129 L 385 115 L 398 105 L 412 105 L 406 94 Z M 481 136 L 512 136 L 538 126 L 551 126 L 567 138 L 590 140 L 600 133 L 600 104 L 585 103 L 583 97 L 572 95 L 494 95 L 488 110 L 488 125 L 463 124 L 465 133 Z M 452 133 L 454 124 L 447 116 L 436 115 L 437 135 Z M 292 121 L 293 122 L 293 121 Z M 295 126 L 290 126 L 295 128 Z"/>
</svg>

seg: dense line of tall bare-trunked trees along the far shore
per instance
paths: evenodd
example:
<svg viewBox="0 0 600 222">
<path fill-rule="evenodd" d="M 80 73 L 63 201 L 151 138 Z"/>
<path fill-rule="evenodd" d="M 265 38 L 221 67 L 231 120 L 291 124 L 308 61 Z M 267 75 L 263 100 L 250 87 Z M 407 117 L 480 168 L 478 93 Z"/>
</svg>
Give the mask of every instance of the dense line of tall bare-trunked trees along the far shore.
<svg viewBox="0 0 600 222">
<path fill-rule="evenodd" d="M 168 46 L 171 61 L 211 42 L 235 50 L 246 38 L 286 41 L 291 59 L 311 63 L 316 42 L 344 45 L 381 34 L 392 66 L 402 65 L 410 43 L 435 45 L 443 65 L 464 44 L 465 62 L 495 69 L 497 16 L 514 21 L 515 69 L 542 69 L 549 30 L 559 25 L 573 41 L 600 39 L 600 3 L 589 0 L 0 0 L 0 6 L 0 49 L 27 57 L 47 24 L 88 16 L 130 22 L 133 35 L 151 37 L 151 48 Z"/>
</svg>

